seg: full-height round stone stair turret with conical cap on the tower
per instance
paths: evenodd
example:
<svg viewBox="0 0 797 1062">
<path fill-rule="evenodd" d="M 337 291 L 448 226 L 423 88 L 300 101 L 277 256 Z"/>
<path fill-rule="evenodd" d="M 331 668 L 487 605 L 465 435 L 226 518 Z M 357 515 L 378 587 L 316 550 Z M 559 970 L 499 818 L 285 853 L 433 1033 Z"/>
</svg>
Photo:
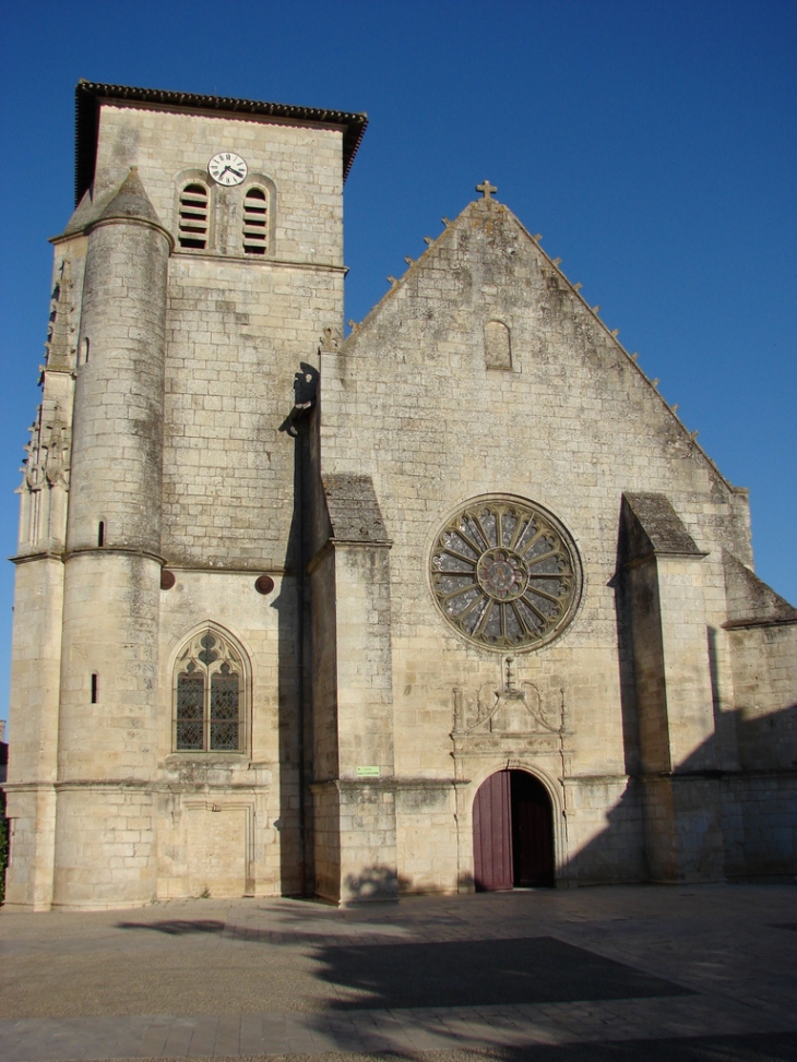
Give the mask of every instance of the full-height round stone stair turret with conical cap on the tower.
<svg viewBox="0 0 797 1062">
<path fill-rule="evenodd" d="M 58 740 L 53 903 L 63 906 L 148 903 L 155 894 L 170 243 L 131 169 L 92 226 L 83 285 Z M 112 783 L 123 786 L 127 814 L 103 799 Z"/>
</svg>

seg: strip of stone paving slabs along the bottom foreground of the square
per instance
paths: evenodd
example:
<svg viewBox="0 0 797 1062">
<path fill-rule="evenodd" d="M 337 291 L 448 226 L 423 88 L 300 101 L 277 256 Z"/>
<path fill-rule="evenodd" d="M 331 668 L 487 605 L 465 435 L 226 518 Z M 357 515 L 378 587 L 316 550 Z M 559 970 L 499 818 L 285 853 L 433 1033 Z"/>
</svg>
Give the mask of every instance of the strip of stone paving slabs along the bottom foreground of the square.
<svg viewBox="0 0 797 1062">
<path fill-rule="evenodd" d="M 340 1014 L 217 1018 L 22 1018 L 0 1022 L 4 1062 L 118 1058 L 281 1057 L 324 1052 L 484 1050 L 530 1045 L 662 1040 L 792 1033 L 797 1021 L 705 998 L 624 1000 L 622 1005 L 413 1007 Z"/>
</svg>

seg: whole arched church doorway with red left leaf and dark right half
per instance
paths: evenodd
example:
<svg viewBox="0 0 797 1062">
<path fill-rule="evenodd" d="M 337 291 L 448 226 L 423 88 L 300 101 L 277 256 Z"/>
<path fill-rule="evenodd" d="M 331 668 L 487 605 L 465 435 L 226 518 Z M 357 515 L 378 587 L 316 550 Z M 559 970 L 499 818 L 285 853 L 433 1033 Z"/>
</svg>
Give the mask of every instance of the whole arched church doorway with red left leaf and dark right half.
<svg viewBox="0 0 797 1062">
<path fill-rule="evenodd" d="M 497 771 L 473 806 L 474 879 L 479 892 L 554 885 L 550 797 L 526 771 Z"/>
</svg>

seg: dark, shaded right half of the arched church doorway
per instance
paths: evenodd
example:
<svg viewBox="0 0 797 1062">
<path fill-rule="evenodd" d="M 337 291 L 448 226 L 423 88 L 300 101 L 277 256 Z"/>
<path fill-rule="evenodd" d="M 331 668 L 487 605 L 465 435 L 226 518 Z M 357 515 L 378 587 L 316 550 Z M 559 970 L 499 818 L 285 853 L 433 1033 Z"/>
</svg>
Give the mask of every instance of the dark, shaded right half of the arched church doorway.
<svg viewBox="0 0 797 1062">
<path fill-rule="evenodd" d="M 525 771 L 512 771 L 511 775 L 513 883 L 552 885 L 550 797 L 543 783 Z"/>
</svg>

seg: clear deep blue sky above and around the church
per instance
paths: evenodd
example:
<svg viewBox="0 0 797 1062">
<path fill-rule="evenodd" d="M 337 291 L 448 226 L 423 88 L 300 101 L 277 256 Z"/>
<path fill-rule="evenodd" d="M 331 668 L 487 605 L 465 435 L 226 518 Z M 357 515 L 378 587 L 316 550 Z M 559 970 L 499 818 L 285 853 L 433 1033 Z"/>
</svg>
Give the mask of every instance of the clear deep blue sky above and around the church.
<svg viewBox="0 0 797 1062">
<path fill-rule="evenodd" d="M 488 177 L 750 488 L 758 573 L 797 604 L 794 0 L 7 0 L 3 33 L 3 556 L 85 77 L 367 111 L 347 319 Z M 4 564 L 0 718 L 12 592 Z"/>
</svg>

